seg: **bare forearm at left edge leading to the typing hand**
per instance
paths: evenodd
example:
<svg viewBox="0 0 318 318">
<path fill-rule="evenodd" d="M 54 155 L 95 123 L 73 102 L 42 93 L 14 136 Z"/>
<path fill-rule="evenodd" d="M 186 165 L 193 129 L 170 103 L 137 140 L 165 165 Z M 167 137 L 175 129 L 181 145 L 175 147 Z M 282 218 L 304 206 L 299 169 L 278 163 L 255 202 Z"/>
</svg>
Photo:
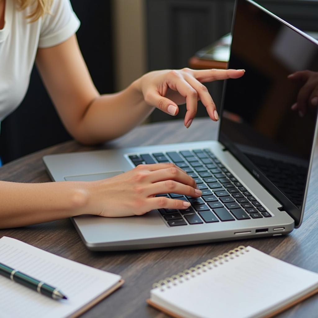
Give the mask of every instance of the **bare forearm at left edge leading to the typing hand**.
<svg viewBox="0 0 318 318">
<path fill-rule="evenodd" d="M 0 228 L 69 218 L 85 211 L 84 183 L 15 183 L 0 181 Z"/>
</svg>

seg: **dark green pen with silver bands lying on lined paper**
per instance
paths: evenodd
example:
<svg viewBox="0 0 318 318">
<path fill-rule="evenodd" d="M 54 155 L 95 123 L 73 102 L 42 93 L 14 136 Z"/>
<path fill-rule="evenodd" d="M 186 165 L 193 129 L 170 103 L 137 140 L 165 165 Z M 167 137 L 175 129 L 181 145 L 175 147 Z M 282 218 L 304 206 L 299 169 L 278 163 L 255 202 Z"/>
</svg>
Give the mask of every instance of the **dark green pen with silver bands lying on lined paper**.
<svg viewBox="0 0 318 318">
<path fill-rule="evenodd" d="M 67 297 L 63 295 L 62 292 L 56 287 L 52 287 L 51 285 L 48 285 L 43 281 L 37 280 L 29 275 L 21 273 L 17 269 L 11 268 L 2 263 L 0 263 L 0 275 L 10 278 L 10 280 L 29 287 L 37 291 L 38 293 L 51 297 L 53 299 L 67 299 Z"/>
</svg>

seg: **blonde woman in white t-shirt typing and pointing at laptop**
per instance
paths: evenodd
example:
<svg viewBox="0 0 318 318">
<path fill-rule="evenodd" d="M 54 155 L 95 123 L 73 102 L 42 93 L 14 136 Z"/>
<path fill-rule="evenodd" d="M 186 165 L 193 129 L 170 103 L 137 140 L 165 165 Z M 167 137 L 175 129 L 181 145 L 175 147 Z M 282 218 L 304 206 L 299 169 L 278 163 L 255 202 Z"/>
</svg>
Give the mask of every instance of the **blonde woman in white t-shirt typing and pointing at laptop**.
<svg viewBox="0 0 318 318">
<path fill-rule="evenodd" d="M 100 95 L 74 35 L 78 27 L 69 0 L 0 0 L 0 120 L 23 99 L 34 61 L 66 129 L 84 144 L 125 134 L 154 107 L 176 115 L 178 104 L 185 102 L 184 125 L 189 128 L 198 99 L 210 118 L 218 121 L 214 102 L 201 83 L 244 74 L 243 70 L 155 71 L 119 93 Z M 202 194 L 190 176 L 166 163 L 138 166 L 96 182 L 0 181 L 0 190 L 2 228 L 80 214 L 118 217 L 156 208 L 185 209 L 190 203 L 155 195 Z"/>
</svg>

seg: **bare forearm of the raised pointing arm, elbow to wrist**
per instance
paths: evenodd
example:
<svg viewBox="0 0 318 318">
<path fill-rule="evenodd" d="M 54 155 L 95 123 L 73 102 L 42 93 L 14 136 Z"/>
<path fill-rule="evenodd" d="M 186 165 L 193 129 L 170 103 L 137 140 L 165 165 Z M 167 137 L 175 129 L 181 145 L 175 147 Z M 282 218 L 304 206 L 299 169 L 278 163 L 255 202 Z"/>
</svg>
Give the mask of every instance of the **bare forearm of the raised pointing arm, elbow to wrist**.
<svg viewBox="0 0 318 318">
<path fill-rule="evenodd" d="M 94 99 L 79 123 L 76 139 L 94 144 L 117 138 L 144 121 L 153 109 L 135 81 L 119 93 Z"/>
</svg>

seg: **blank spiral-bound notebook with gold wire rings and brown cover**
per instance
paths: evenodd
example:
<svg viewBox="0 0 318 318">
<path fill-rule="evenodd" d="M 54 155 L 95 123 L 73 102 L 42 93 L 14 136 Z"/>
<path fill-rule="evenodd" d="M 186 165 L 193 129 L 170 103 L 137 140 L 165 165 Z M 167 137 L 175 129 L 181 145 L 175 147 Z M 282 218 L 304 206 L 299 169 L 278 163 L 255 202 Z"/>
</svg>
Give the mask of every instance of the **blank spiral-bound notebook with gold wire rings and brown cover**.
<svg viewBox="0 0 318 318">
<path fill-rule="evenodd" d="M 153 284 L 147 302 L 172 317 L 272 317 L 318 292 L 318 274 L 239 246 Z"/>
</svg>

